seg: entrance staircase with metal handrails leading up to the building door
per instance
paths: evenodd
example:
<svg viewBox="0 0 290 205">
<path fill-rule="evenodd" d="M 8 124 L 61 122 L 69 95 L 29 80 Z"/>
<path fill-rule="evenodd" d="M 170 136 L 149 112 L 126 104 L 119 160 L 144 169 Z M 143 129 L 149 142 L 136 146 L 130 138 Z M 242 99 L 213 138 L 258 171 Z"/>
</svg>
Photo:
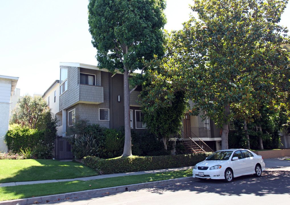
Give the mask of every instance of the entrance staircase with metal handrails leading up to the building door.
<svg viewBox="0 0 290 205">
<path fill-rule="evenodd" d="M 187 148 L 189 153 L 205 153 L 214 152 L 207 144 L 204 143 L 199 137 L 191 132 L 191 136 L 188 136 L 181 130 L 181 139 L 184 146 Z"/>
</svg>

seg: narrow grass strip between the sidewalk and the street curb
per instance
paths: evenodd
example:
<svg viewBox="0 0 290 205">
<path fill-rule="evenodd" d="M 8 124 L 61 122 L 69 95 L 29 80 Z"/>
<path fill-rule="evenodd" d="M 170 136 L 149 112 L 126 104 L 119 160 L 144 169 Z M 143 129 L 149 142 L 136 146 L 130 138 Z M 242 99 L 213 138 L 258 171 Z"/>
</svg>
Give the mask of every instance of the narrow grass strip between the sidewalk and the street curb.
<svg viewBox="0 0 290 205">
<path fill-rule="evenodd" d="M 46 184 L 7 186 L 0 187 L 0 201 L 85 191 L 113 186 L 155 182 L 160 180 L 191 177 L 191 176 L 192 169 L 188 169 L 156 174 L 130 175 L 104 179 L 95 179 L 90 181 L 70 181 L 70 182 L 55 182 Z"/>
</svg>

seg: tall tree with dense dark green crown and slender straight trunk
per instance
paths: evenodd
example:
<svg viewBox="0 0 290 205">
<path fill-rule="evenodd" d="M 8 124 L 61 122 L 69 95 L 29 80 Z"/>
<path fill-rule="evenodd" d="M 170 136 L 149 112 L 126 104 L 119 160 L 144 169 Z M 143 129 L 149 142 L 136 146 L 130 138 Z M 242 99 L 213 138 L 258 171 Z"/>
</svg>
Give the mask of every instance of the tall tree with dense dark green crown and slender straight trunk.
<svg viewBox="0 0 290 205">
<path fill-rule="evenodd" d="M 123 157 L 132 155 L 130 93 L 143 81 L 145 61 L 163 55 L 165 0 L 90 0 L 89 31 L 99 68 L 124 75 L 125 142 Z M 129 79 L 134 70 L 140 75 Z M 130 89 L 130 86 L 132 89 Z"/>
</svg>

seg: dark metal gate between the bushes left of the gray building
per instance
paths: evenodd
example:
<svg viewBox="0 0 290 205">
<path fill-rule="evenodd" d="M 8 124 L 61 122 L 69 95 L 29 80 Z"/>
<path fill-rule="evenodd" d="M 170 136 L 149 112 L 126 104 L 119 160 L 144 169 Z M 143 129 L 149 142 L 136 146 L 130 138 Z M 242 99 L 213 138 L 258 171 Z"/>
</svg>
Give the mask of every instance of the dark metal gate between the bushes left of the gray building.
<svg viewBox="0 0 290 205">
<path fill-rule="evenodd" d="M 72 160 L 73 153 L 71 151 L 71 144 L 69 143 L 71 137 L 57 136 L 55 138 L 54 157 L 57 160 Z"/>
</svg>

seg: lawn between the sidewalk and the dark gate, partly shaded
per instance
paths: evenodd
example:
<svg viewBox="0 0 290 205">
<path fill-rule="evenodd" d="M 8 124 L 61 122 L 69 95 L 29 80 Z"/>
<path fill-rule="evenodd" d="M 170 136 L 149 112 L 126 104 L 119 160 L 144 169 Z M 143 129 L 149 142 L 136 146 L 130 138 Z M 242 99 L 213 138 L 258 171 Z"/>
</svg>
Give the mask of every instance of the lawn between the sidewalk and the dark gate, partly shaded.
<svg viewBox="0 0 290 205">
<path fill-rule="evenodd" d="M 0 167 L 0 183 L 73 179 L 98 175 L 97 171 L 81 163 L 52 159 L 1 159 Z"/>
</svg>

